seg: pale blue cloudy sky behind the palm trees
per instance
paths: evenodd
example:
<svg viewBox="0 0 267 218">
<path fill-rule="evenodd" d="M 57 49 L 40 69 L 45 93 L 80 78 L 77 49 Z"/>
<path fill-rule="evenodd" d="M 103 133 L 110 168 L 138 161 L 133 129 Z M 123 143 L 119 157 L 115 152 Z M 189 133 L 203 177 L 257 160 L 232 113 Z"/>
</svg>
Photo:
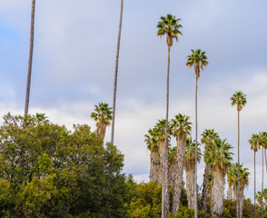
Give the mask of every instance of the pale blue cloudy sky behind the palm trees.
<svg viewBox="0 0 267 218">
<path fill-rule="evenodd" d="M 265 0 L 124 0 L 114 144 L 124 154 L 124 173 L 149 181 L 150 153 L 144 134 L 165 117 L 167 45 L 156 35 L 162 15 L 181 18 L 183 35 L 171 49 L 170 119 L 194 122 L 195 74 L 185 66 L 191 49 L 209 64 L 198 83 L 199 138 L 214 128 L 234 146 L 237 110 L 230 97 L 247 94 L 241 112 L 241 163 L 250 169 L 246 197 L 253 199 L 253 153 L 248 140 L 267 131 L 267 14 Z M 30 0 L 0 0 L 0 115 L 23 114 L 30 36 Z M 55 124 L 89 124 L 94 104 L 112 106 L 120 1 L 36 0 L 35 48 L 29 114 Z M 110 127 L 105 141 L 110 141 Z M 172 141 L 175 145 L 175 141 Z M 257 191 L 261 154 L 257 154 Z M 203 182 L 204 163 L 198 166 Z M 267 186 L 267 178 L 265 187 Z"/>
</svg>

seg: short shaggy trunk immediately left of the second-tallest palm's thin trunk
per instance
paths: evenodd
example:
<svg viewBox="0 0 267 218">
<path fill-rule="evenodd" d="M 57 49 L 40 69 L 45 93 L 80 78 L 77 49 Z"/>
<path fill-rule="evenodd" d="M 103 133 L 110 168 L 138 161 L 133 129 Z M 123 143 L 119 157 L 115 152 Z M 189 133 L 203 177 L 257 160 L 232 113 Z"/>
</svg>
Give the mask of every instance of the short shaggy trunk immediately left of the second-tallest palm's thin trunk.
<svg viewBox="0 0 267 218">
<path fill-rule="evenodd" d="M 186 193 L 187 193 L 188 207 L 194 208 L 194 205 L 195 205 L 195 197 L 194 197 L 195 167 L 194 165 L 191 168 L 185 167 L 185 173 L 186 173 Z"/>
</svg>

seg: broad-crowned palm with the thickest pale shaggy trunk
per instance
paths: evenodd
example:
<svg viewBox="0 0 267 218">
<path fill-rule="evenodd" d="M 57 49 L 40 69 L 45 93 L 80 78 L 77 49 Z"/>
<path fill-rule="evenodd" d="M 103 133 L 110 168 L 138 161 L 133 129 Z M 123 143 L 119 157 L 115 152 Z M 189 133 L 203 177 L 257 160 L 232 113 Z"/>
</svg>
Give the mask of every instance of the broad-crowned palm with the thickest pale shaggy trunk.
<svg viewBox="0 0 267 218">
<path fill-rule="evenodd" d="M 223 188 L 227 168 L 231 165 L 232 146 L 226 139 L 217 138 L 210 144 L 209 152 L 204 154 L 206 163 L 211 164 L 213 172 L 211 211 L 212 217 L 220 217 L 223 213 Z"/>
</svg>

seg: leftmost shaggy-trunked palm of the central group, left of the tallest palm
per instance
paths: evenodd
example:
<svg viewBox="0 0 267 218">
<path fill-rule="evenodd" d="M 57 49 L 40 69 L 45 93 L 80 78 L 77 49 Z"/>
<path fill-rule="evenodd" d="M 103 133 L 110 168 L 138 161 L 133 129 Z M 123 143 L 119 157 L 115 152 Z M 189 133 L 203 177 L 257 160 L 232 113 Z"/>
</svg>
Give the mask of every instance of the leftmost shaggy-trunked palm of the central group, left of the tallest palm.
<svg viewBox="0 0 267 218">
<path fill-rule="evenodd" d="M 159 144 L 157 142 L 157 135 L 155 134 L 155 129 L 149 129 L 148 134 L 145 134 L 144 137 L 144 142 L 147 144 L 147 148 L 150 150 L 149 178 L 151 182 L 159 183 L 160 155 Z"/>
</svg>

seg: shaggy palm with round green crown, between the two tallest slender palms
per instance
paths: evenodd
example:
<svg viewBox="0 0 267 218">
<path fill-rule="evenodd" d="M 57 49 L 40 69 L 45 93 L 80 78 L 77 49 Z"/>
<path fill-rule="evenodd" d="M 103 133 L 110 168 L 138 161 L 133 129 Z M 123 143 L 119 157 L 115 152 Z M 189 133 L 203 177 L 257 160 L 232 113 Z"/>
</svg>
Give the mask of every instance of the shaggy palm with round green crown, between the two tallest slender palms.
<svg viewBox="0 0 267 218">
<path fill-rule="evenodd" d="M 180 197 L 183 185 L 183 164 L 185 154 L 185 143 L 188 135 L 191 134 L 191 125 L 189 116 L 178 114 L 171 121 L 173 136 L 176 137 L 176 158 L 174 160 L 174 187 L 173 187 L 173 213 L 178 213 Z"/>
</svg>

